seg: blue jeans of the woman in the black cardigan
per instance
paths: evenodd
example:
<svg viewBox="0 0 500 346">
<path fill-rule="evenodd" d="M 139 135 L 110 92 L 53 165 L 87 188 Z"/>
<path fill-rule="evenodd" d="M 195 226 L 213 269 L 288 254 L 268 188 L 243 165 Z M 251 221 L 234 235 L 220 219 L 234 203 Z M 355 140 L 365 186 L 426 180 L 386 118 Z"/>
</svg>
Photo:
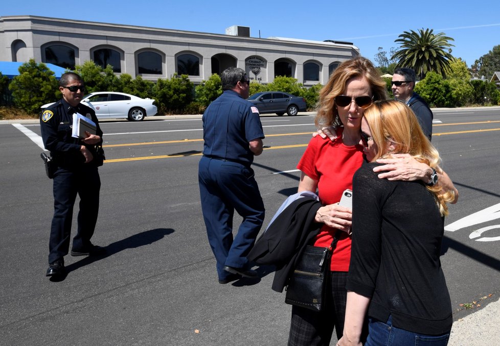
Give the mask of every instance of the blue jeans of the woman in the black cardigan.
<svg viewBox="0 0 500 346">
<path fill-rule="evenodd" d="M 365 346 L 446 346 L 449 332 L 443 335 L 425 335 L 396 328 L 392 325 L 392 316 L 386 323 L 370 318 L 368 340 Z"/>
</svg>

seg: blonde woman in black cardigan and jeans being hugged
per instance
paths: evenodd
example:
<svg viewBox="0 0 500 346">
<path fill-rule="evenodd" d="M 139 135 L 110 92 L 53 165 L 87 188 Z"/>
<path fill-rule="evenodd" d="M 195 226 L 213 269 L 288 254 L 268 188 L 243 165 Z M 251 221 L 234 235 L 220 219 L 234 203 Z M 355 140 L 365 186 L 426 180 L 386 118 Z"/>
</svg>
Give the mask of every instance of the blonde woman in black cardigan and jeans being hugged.
<svg viewBox="0 0 500 346">
<path fill-rule="evenodd" d="M 376 160 L 407 154 L 439 168 L 439 153 L 411 109 L 398 101 L 365 111 L 361 142 L 367 160 L 353 179 L 352 255 L 344 336 L 337 345 L 446 345 L 451 303 L 440 251 L 447 203 L 454 191 L 434 181 L 389 181 L 373 171 Z"/>
</svg>

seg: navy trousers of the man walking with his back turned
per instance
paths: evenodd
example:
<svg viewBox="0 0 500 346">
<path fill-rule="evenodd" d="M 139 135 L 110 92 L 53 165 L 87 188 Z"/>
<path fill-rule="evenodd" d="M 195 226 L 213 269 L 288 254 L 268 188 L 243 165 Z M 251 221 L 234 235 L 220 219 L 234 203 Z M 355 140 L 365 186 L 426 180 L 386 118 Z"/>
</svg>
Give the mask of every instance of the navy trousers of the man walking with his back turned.
<svg viewBox="0 0 500 346">
<path fill-rule="evenodd" d="M 248 268 L 246 255 L 264 222 L 264 203 L 250 167 L 203 156 L 198 167 L 201 209 L 207 235 L 223 280 L 224 265 Z M 233 238 L 234 211 L 243 217 Z"/>
</svg>

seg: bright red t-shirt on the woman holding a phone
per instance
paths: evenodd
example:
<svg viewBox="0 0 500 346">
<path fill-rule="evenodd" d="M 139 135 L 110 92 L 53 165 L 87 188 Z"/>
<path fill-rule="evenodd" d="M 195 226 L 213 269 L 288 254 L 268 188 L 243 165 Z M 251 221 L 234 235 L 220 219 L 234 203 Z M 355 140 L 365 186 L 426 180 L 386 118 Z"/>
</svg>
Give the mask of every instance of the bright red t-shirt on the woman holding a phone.
<svg viewBox="0 0 500 346">
<path fill-rule="evenodd" d="M 342 129 L 337 139 L 313 137 L 297 168 L 309 178 L 318 181 L 318 195 L 323 205 L 340 201 L 345 189 L 352 189 L 354 172 L 363 163 L 363 149 L 357 144 L 347 146 L 342 142 Z M 326 225 L 314 238 L 314 246 L 330 246 L 337 229 Z M 351 236 L 340 232 L 340 238 L 332 255 L 331 270 L 348 271 L 351 259 Z"/>
</svg>

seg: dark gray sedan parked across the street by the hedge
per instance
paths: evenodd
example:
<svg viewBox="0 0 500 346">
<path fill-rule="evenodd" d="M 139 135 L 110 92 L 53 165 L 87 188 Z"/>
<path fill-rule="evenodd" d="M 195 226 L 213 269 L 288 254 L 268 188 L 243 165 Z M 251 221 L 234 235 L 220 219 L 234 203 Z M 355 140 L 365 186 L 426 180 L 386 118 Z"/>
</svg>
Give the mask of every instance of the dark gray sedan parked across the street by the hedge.
<svg viewBox="0 0 500 346">
<path fill-rule="evenodd" d="M 299 112 L 307 110 L 304 97 L 293 96 L 282 91 L 258 92 L 247 98 L 252 102 L 260 114 L 276 113 L 283 115 L 285 112 L 290 115 L 297 115 Z"/>
</svg>

